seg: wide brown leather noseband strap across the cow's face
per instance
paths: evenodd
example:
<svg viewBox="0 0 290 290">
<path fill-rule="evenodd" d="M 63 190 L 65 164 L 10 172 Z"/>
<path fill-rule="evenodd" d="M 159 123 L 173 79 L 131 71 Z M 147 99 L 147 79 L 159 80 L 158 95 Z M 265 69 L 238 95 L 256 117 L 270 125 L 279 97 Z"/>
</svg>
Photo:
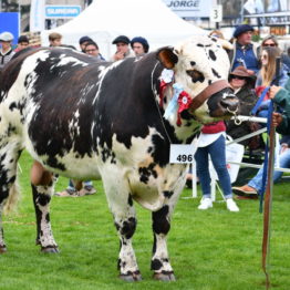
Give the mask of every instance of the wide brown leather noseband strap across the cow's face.
<svg viewBox="0 0 290 290">
<path fill-rule="evenodd" d="M 226 87 L 230 87 L 230 84 L 225 80 L 214 82 L 193 99 L 189 112 L 193 113 L 199 106 L 201 106 L 205 103 L 205 101 L 209 99 L 213 94 L 216 94 Z"/>
</svg>

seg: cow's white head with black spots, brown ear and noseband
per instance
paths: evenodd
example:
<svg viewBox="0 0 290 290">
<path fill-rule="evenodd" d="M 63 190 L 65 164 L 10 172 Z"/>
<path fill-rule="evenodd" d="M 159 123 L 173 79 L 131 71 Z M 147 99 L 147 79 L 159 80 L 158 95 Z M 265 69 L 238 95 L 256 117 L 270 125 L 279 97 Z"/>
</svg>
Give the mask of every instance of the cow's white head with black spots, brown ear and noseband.
<svg viewBox="0 0 290 290">
<path fill-rule="evenodd" d="M 224 44 L 195 37 L 157 52 L 163 65 L 174 71 L 174 82 L 193 100 L 188 112 L 201 123 L 229 118 L 238 110 L 238 99 L 227 82 L 230 64 Z"/>
</svg>

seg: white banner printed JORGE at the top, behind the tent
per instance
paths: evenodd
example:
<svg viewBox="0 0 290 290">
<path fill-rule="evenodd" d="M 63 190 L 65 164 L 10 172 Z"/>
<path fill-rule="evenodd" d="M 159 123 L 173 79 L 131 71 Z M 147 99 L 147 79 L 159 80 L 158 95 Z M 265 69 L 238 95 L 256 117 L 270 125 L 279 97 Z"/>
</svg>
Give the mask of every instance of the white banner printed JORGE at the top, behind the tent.
<svg viewBox="0 0 290 290">
<path fill-rule="evenodd" d="M 163 0 L 182 18 L 209 18 L 213 0 Z"/>
</svg>

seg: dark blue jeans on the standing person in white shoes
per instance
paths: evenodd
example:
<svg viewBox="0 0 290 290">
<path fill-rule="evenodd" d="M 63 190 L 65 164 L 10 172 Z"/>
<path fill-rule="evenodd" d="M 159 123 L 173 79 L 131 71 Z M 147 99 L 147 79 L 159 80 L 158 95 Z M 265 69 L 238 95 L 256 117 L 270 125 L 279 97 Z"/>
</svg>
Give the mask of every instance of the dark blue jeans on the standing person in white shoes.
<svg viewBox="0 0 290 290">
<path fill-rule="evenodd" d="M 206 147 L 198 147 L 195 154 L 196 169 L 201 185 L 203 197 L 210 197 L 210 175 L 208 154 L 217 172 L 220 187 L 226 198 L 231 198 L 230 177 L 226 165 L 226 142 L 222 135 Z"/>
</svg>

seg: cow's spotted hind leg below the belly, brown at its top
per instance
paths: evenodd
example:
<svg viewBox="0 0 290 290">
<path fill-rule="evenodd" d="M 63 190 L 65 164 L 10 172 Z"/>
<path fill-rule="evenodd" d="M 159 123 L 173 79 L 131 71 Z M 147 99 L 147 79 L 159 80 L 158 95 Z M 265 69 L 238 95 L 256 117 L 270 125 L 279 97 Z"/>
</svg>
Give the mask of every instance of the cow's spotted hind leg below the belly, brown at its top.
<svg viewBox="0 0 290 290">
<path fill-rule="evenodd" d="M 54 176 L 34 162 L 31 169 L 31 187 L 37 216 L 37 245 L 42 252 L 59 252 L 50 222 L 50 200 L 54 191 Z"/>
</svg>

